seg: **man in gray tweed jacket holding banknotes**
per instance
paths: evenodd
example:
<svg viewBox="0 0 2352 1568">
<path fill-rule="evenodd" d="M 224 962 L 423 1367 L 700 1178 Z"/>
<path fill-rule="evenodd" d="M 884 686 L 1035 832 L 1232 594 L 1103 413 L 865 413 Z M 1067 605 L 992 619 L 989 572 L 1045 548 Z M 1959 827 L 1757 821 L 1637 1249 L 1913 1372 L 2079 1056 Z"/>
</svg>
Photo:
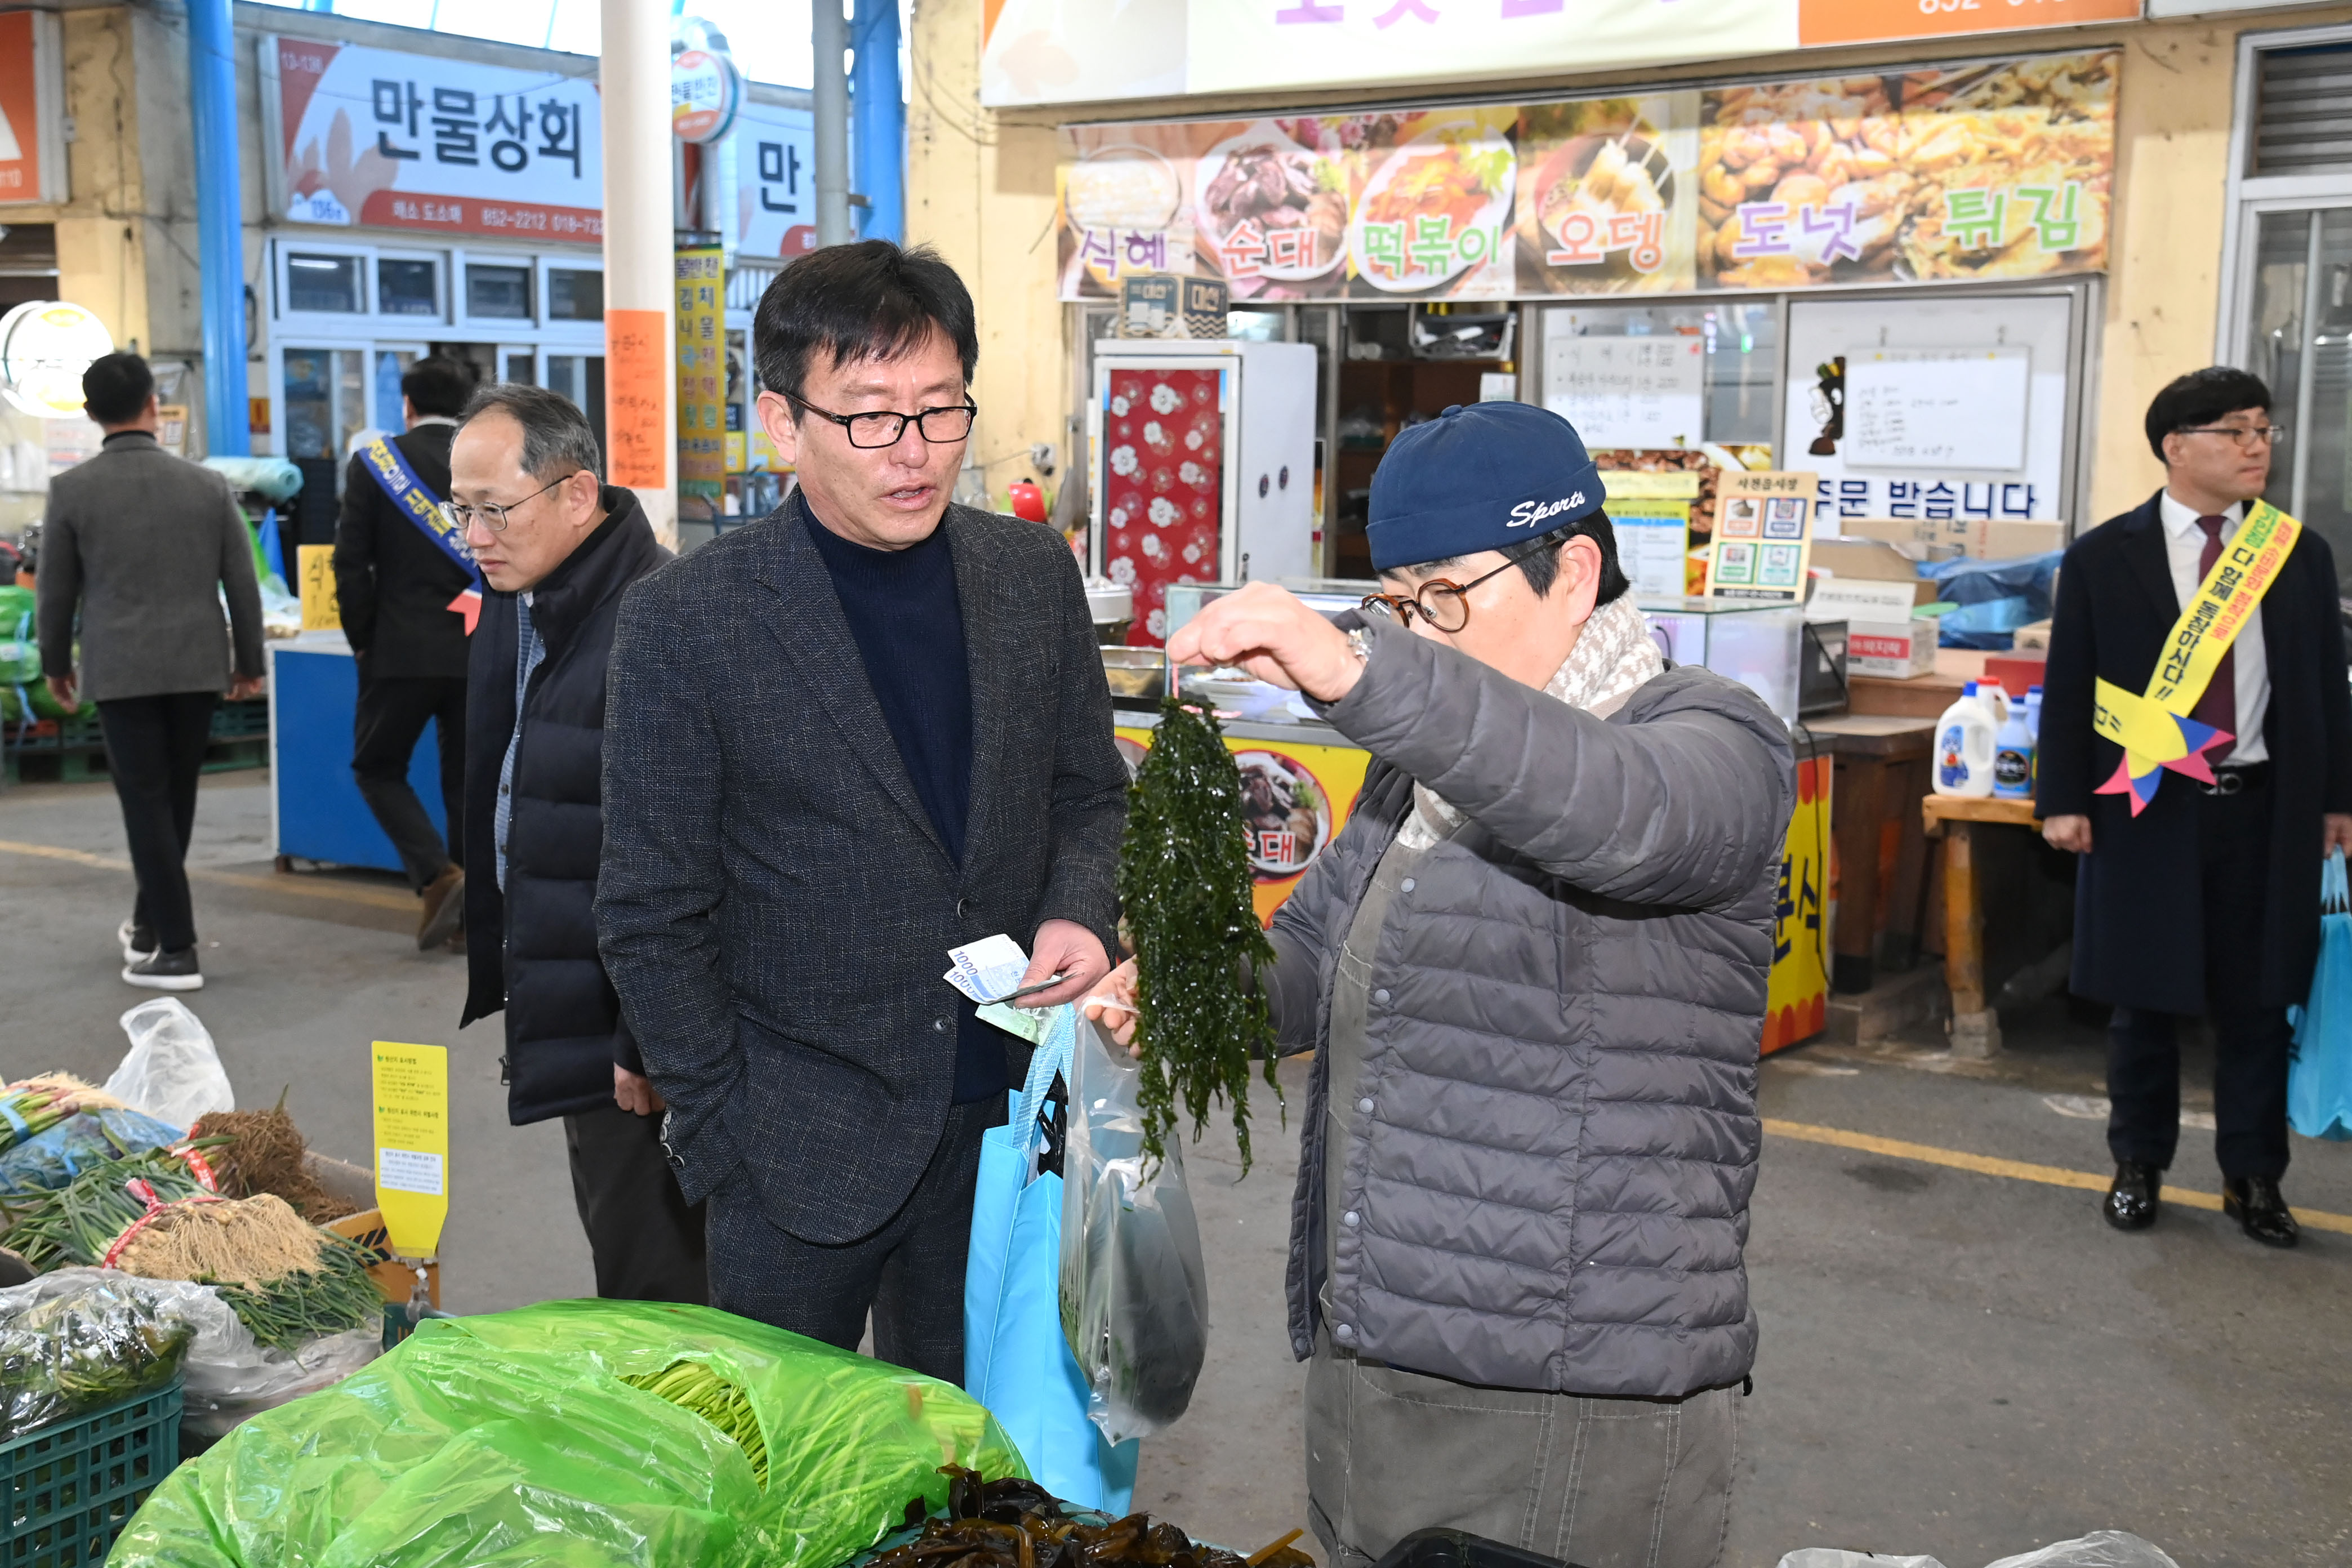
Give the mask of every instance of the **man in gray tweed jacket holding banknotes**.
<svg viewBox="0 0 2352 1568">
<path fill-rule="evenodd" d="M 948 950 L 1009 933 L 1037 1004 L 1110 969 L 1127 766 L 1058 534 L 948 503 L 971 296 L 884 240 L 755 320 L 800 491 L 630 588 L 604 724 L 604 969 L 708 1201 L 710 1302 L 948 1382 L 981 1133 L 1025 1046 Z M 1025 983 L 1028 983 L 1025 980 Z"/>
</svg>

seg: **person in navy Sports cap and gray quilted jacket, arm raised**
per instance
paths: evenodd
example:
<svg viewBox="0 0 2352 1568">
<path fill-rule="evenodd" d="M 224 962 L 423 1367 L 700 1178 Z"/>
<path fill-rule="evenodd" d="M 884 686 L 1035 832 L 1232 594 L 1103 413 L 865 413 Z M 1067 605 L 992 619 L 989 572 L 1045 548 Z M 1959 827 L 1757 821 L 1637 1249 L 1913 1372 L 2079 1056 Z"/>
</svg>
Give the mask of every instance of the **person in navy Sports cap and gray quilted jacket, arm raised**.
<svg viewBox="0 0 2352 1568">
<path fill-rule="evenodd" d="M 1555 414 L 1406 430 L 1369 536 L 1362 611 L 1254 583 L 1169 639 L 1374 757 L 1272 926 L 1284 1051 L 1315 1051 L 1289 1262 L 1310 1521 L 1338 1568 L 1423 1526 L 1700 1568 L 1757 1347 L 1788 731 L 1665 665 Z"/>
</svg>

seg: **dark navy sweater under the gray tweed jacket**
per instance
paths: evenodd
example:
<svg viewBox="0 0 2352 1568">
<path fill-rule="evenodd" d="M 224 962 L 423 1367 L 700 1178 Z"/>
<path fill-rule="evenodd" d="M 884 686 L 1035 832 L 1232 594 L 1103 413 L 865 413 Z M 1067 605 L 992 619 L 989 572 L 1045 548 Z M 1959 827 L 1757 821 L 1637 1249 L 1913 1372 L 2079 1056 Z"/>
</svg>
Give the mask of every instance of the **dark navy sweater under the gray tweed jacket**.
<svg viewBox="0 0 2352 1568">
<path fill-rule="evenodd" d="M 873 550 L 821 524 L 807 498 L 800 520 L 833 576 L 915 799 L 948 856 L 962 865 L 971 809 L 971 668 L 964 661 L 964 611 L 955 597 L 948 531 L 936 529 L 906 550 Z M 946 966 L 948 954 L 938 957 Z M 1004 1032 L 981 1023 L 971 1001 L 957 999 L 955 1103 L 969 1105 L 1004 1088 Z"/>
</svg>

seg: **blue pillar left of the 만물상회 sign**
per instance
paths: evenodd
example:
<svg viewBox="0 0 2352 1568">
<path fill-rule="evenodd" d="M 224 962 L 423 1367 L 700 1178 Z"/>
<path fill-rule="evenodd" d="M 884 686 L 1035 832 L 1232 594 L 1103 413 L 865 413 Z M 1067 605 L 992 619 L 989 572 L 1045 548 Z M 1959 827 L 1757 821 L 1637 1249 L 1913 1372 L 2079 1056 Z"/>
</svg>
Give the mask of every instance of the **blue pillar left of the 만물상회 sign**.
<svg viewBox="0 0 2352 1568">
<path fill-rule="evenodd" d="M 252 456 L 245 402 L 245 193 L 238 179 L 238 66 L 228 0 L 188 0 L 195 122 L 195 233 L 205 296 L 205 447 Z"/>
</svg>

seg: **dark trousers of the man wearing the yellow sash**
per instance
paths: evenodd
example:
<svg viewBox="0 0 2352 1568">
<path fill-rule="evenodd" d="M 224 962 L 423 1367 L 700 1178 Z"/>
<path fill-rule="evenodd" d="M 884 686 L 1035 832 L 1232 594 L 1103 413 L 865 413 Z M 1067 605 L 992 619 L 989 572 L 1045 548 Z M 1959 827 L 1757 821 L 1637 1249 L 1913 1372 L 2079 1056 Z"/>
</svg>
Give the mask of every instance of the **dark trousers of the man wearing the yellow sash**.
<svg viewBox="0 0 2352 1568">
<path fill-rule="evenodd" d="M 2169 778 L 2166 790 L 2194 788 Z M 2199 795 L 2206 1018 L 2213 1023 L 2213 1126 L 2230 1180 L 2286 1175 L 2284 1006 L 2263 1006 L 2263 905 L 2270 863 L 2270 785 Z M 2317 853 L 2317 823 L 2312 825 Z M 2180 1143 L 2178 1018 L 2114 1009 L 2107 1025 L 2107 1150 L 2171 1166 Z"/>
</svg>

